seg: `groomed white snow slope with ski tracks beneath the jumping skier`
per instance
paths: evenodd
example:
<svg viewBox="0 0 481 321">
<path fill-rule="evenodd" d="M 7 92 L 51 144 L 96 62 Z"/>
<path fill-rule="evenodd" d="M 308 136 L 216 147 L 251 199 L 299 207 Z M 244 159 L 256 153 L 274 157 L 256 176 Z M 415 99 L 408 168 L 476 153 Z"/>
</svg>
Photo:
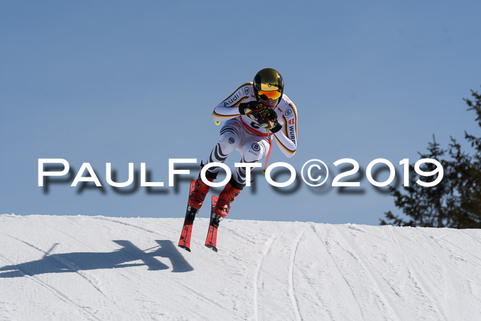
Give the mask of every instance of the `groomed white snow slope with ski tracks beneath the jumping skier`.
<svg viewBox="0 0 481 321">
<path fill-rule="evenodd" d="M 481 320 L 481 230 L 0 215 L 0 320 Z"/>
</svg>

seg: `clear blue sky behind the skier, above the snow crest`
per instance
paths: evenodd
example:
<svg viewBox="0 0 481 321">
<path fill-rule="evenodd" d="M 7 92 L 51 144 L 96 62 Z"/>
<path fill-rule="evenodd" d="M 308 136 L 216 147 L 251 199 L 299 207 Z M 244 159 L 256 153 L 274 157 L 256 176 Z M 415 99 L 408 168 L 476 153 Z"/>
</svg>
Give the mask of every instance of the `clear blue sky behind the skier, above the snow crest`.
<svg viewBox="0 0 481 321">
<path fill-rule="evenodd" d="M 37 186 L 38 158 L 105 163 L 126 180 L 146 162 L 168 181 L 169 158 L 208 157 L 212 109 L 264 67 L 298 107 L 299 144 L 271 162 L 418 159 L 427 142 L 479 135 L 463 97 L 481 85 L 479 1 L 2 1 L 0 210 L 15 214 L 182 217 L 179 190 L 128 195 Z M 227 164 L 238 162 L 235 153 Z M 192 176 L 196 173 L 192 172 Z M 332 178 L 332 177 L 331 177 Z M 301 184 L 280 195 L 258 176 L 232 219 L 377 224 L 394 207 L 362 193 Z M 167 183 L 166 183 L 167 185 Z M 208 215 L 203 208 L 201 216 Z"/>
</svg>

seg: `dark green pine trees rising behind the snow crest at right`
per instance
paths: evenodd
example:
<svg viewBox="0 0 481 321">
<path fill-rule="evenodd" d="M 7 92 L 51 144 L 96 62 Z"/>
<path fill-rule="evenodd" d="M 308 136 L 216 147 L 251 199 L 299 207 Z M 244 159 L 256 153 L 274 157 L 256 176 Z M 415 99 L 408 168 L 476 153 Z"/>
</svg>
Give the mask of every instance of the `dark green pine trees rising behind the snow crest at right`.
<svg viewBox="0 0 481 321">
<path fill-rule="evenodd" d="M 471 90 L 471 96 L 473 100 L 464 100 L 468 110 L 476 112 L 476 121 L 481 128 L 481 95 Z M 390 188 L 394 204 L 401 208 L 405 218 L 388 211 L 384 213 L 385 219 L 380 220 L 381 225 L 481 228 L 481 137 L 465 131 L 465 139 L 471 143 L 475 155 L 463 152 L 453 137 L 449 148 L 443 150 L 433 135 L 433 142 L 428 143 L 428 153 L 420 153 L 420 156 L 438 160 L 444 169 L 443 179 L 436 186 L 426 188 L 416 181 L 434 181 L 437 176 L 411 175 L 409 186 L 404 187 L 403 192 Z M 445 159 L 446 154 L 449 159 Z M 435 168 L 431 163 L 421 165 L 421 170 L 427 172 Z M 415 173 L 411 164 L 410 173 Z"/>
</svg>

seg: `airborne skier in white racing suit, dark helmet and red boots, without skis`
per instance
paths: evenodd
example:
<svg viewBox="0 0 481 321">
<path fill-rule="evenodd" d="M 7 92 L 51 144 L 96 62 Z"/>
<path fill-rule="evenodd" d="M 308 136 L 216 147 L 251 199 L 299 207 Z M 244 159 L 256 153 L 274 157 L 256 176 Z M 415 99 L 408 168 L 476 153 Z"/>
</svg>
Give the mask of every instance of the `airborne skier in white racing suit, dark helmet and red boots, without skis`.
<svg viewBox="0 0 481 321">
<path fill-rule="evenodd" d="M 241 163 L 259 162 L 270 153 L 271 137 L 276 139 L 280 150 L 287 157 L 292 157 L 298 146 L 298 113 L 293 102 L 284 94 L 284 80 L 275 69 L 262 69 L 254 77 L 254 82 L 238 87 L 214 108 L 212 118 L 216 122 L 225 121 L 225 124 L 207 164 L 223 163 L 236 150 L 242 156 Z M 219 166 L 209 168 L 205 177 L 214 181 L 219 170 Z M 221 219 L 229 214 L 230 204 L 245 186 L 245 179 L 246 168 L 236 168 L 232 179 L 219 195 L 211 225 L 217 228 Z M 188 206 L 198 212 L 208 192 L 209 186 L 199 174 L 194 190 L 190 193 Z"/>
</svg>

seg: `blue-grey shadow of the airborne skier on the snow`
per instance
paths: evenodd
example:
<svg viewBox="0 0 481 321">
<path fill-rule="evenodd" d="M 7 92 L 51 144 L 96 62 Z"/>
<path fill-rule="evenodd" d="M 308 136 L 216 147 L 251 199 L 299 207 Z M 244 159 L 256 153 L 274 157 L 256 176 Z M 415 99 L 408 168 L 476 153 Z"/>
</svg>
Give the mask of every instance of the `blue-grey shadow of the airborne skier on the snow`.
<svg viewBox="0 0 481 321">
<path fill-rule="evenodd" d="M 115 240 L 113 242 L 122 246 L 122 248 L 113 252 L 105 253 L 47 253 L 40 260 L 0 267 L 0 278 L 14 278 L 25 275 L 34 276 L 36 274 L 44 273 L 77 272 L 89 269 L 116 269 L 141 265 L 148 266 L 148 269 L 151 271 L 170 268 L 155 258 L 155 256 L 168 258 L 170 263 L 172 263 L 172 272 L 190 272 L 194 270 L 186 259 L 183 258 L 172 241 L 156 240 L 159 244 L 159 248 L 148 253 L 145 252 L 147 250 L 144 251 L 139 249 L 130 241 Z M 57 244 L 55 244 L 54 247 L 56 245 Z M 51 252 L 54 247 L 52 247 L 49 252 Z M 142 261 L 142 263 L 133 263 L 135 261 Z"/>
</svg>

